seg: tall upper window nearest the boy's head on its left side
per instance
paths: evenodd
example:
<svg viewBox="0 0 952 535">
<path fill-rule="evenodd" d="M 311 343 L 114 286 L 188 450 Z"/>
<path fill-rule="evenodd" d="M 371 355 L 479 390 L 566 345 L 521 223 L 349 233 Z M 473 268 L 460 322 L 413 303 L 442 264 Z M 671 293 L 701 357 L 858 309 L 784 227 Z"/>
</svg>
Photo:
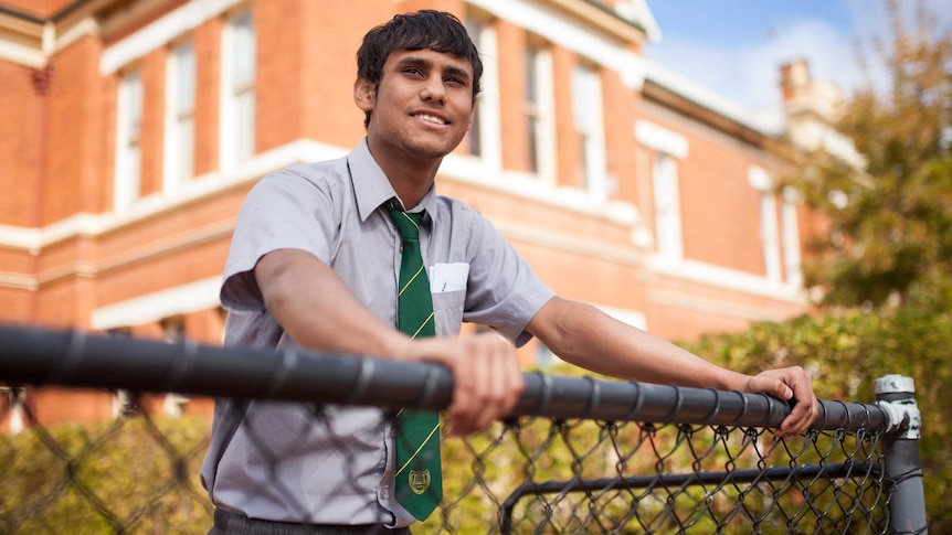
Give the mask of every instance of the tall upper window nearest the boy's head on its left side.
<svg viewBox="0 0 952 535">
<path fill-rule="evenodd" d="M 222 38 L 221 165 L 254 156 L 256 43 L 251 11 L 229 19 Z"/>
</svg>

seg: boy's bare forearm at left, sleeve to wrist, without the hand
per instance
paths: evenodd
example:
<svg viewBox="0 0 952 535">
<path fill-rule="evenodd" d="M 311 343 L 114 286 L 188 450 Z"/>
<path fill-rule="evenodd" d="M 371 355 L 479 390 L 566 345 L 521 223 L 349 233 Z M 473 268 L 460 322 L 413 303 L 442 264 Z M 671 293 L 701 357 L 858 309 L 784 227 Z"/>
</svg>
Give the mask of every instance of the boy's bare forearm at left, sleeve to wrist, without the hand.
<svg viewBox="0 0 952 535">
<path fill-rule="evenodd" d="M 265 309 L 295 342 L 319 351 L 393 357 L 409 338 L 377 318 L 329 266 L 298 250 L 277 250 L 255 267 Z"/>
</svg>

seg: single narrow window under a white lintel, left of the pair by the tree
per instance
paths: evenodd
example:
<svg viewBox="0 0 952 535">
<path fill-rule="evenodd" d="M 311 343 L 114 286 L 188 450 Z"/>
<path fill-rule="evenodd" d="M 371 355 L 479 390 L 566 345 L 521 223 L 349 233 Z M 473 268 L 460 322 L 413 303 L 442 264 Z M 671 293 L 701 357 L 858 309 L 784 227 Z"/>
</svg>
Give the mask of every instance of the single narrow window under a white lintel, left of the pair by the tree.
<svg viewBox="0 0 952 535">
<path fill-rule="evenodd" d="M 658 255 L 679 259 L 684 256 L 681 243 L 680 195 L 678 193 L 678 164 L 674 157 L 656 153 L 652 181 L 655 192 L 655 233 Z"/>
</svg>

